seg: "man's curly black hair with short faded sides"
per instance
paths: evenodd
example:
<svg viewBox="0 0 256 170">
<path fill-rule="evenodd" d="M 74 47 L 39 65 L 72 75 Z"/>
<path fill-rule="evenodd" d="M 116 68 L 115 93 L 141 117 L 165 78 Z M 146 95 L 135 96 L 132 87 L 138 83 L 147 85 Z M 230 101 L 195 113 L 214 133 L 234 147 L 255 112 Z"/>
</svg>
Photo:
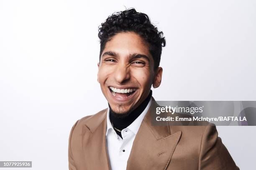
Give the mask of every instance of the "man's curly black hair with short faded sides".
<svg viewBox="0 0 256 170">
<path fill-rule="evenodd" d="M 99 26 L 100 56 L 111 37 L 120 32 L 135 32 L 148 44 L 150 54 L 154 59 L 154 69 L 159 67 L 162 47 L 166 41 L 163 32 L 151 24 L 148 15 L 137 12 L 134 8 L 113 13 Z"/>
</svg>

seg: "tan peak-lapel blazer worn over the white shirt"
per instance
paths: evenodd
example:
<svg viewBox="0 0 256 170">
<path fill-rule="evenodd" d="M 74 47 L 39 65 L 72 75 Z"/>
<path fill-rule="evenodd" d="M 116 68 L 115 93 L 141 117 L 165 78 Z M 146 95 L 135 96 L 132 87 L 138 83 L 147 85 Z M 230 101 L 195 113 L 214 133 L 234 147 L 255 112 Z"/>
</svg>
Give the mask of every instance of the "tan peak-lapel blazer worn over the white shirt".
<svg viewBox="0 0 256 170">
<path fill-rule="evenodd" d="M 239 170 L 215 126 L 152 126 L 154 98 L 133 142 L 127 170 Z M 69 170 L 110 170 L 107 110 L 78 120 L 69 137 Z"/>
</svg>

